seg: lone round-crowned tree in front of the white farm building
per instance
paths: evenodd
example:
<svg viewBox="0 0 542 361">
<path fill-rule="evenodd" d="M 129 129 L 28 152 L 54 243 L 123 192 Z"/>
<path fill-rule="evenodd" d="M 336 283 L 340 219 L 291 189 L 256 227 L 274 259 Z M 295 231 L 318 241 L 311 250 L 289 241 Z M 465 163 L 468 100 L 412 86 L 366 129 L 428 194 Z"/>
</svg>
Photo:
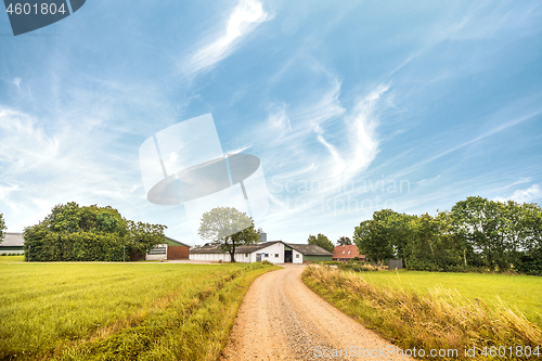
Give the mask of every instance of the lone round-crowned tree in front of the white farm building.
<svg viewBox="0 0 542 361">
<path fill-rule="evenodd" d="M 231 262 L 235 262 L 237 246 L 253 244 L 260 238 L 253 219 L 233 207 L 217 207 L 205 212 L 197 233 L 204 240 L 219 243 L 221 249 L 230 254 Z"/>
</svg>

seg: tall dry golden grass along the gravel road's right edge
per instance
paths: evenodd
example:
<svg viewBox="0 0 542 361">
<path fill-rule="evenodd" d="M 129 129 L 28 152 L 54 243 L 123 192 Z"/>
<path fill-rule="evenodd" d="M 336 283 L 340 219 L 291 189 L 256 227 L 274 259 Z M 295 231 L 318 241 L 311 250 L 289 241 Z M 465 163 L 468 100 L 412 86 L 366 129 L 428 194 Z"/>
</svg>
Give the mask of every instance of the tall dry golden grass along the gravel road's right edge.
<svg viewBox="0 0 542 361">
<path fill-rule="evenodd" d="M 485 347 L 488 353 L 491 347 L 501 347 L 502 350 L 505 348 L 506 352 L 513 352 L 513 357 L 507 358 L 511 360 L 539 359 L 537 356 L 516 357 L 514 352 L 517 346 L 529 346 L 531 350 L 539 347 L 538 351 L 542 354 L 542 330 L 499 298 L 492 301 L 470 299 L 461 292 L 442 286 L 429 287 L 423 292 L 413 291 L 415 287 L 391 285 L 385 279 L 367 282 L 375 273 L 378 272 L 341 272 L 330 267 L 309 266 L 305 269 L 302 279 L 330 304 L 403 350 L 423 348 L 427 352 L 426 359 L 506 359 L 480 354 Z M 485 287 L 491 287 L 491 283 L 486 283 Z M 522 292 L 535 293 L 532 289 Z M 473 347 L 476 347 L 476 357 L 466 357 L 465 348 Z M 508 351 L 508 347 L 513 349 Z M 428 354 L 430 349 L 457 349 L 459 354 L 431 358 Z"/>
</svg>

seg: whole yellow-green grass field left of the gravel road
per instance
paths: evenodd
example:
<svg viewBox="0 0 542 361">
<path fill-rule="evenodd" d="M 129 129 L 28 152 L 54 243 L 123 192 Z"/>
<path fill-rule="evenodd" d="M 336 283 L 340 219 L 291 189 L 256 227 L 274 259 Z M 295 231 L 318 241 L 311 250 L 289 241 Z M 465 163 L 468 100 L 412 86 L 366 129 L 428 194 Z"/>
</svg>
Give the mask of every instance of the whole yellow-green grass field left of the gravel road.
<svg viewBox="0 0 542 361">
<path fill-rule="evenodd" d="M 0 360 L 216 360 L 248 286 L 274 269 L 0 265 Z"/>
</svg>

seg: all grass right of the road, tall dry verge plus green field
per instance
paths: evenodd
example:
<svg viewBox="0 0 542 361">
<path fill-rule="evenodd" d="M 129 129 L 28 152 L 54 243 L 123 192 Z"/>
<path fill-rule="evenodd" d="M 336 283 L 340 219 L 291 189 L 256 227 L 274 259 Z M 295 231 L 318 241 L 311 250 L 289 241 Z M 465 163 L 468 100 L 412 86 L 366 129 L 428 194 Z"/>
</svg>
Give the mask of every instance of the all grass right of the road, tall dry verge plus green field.
<svg viewBox="0 0 542 361">
<path fill-rule="evenodd" d="M 330 304 L 402 349 L 457 349 L 434 360 L 537 360 L 542 356 L 542 278 L 413 271 L 344 272 L 310 266 L 304 282 Z M 462 354 L 476 347 L 476 358 Z M 481 352 L 493 347 L 512 357 Z M 538 349 L 537 349 L 538 347 Z M 506 350 L 505 350 L 506 349 Z"/>
</svg>

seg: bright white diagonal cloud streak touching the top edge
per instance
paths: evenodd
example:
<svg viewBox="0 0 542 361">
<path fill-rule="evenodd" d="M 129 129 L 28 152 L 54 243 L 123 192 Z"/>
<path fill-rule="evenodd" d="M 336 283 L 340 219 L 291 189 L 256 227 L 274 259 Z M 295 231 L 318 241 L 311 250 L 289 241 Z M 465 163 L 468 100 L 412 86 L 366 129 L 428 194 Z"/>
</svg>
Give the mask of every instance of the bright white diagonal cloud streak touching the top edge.
<svg viewBox="0 0 542 361">
<path fill-rule="evenodd" d="M 225 29 L 207 41 L 183 64 L 185 74 L 197 74 L 208 70 L 222 59 L 229 56 L 237 41 L 249 34 L 259 25 L 267 22 L 271 16 L 263 10 L 261 2 L 257 0 L 240 0 L 229 16 Z"/>
</svg>

